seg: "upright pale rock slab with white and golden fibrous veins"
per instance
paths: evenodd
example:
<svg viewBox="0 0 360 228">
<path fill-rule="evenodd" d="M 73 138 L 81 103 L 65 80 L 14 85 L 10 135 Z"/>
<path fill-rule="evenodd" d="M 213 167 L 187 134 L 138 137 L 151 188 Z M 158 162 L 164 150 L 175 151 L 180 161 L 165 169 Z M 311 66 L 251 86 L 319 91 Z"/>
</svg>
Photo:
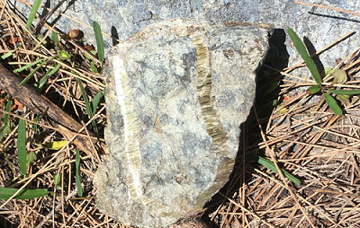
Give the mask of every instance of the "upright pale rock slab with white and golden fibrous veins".
<svg viewBox="0 0 360 228">
<path fill-rule="evenodd" d="M 260 28 L 261 27 L 261 28 Z M 104 67 L 110 159 L 99 210 L 163 227 L 198 214 L 228 180 L 269 26 L 174 19 L 114 47 Z"/>
</svg>

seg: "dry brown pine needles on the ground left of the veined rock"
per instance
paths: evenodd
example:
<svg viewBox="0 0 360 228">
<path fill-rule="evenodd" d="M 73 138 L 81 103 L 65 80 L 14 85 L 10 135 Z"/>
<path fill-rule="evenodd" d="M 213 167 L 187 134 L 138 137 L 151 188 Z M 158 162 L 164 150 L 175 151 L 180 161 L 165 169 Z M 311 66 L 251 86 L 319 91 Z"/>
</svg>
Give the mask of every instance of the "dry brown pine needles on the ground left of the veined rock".
<svg viewBox="0 0 360 228">
<path fill-rule="evenodd" d="M 19 13 L 15 13 L 11 8 L 11 4 L 4 7 L 4 1 L 1 1 L 2 17 L 0 22 L 0 53 L 6 53 L 14 49 L 14 44 L 22 47 L 14 52 L 12 58 L 7 58 L 3 65 L 10 70 L 24 66 L 31 63 L 40 57 L 50 57 L 57 54 L 55 46 L 48 39 L 49 45 L 44 47 L 41 44 L 42 40 L 36 39 L 31 31 L 25 33 L 25 19 L 20 17 Z M 19 3 L 18 3 L 19 4 Z M 9 7 L 10 6 L 10 7 Z M 55 26 L 50 27 L 44 24 L 44 29 L 47 34 L 54 30 Z M 61 68 L 58 74 L 51 75 L 48 78 L 42 94 L 54 101 L 60 108 L 71 113 L 77 120 L 81 120 L 84 126 L 87 126 L 90 121 L 85 115 L 85 103 L 82 100 L 81 92 L 76 78 L 82 80 L 85 91 L 90 98 L 94 97 L 96 92 L 103 91 L 103 78 L 99 74 L 95 74 L 90 68 L 90 61 L 85 59 L 83 53 L 88 54 L 88 46 L 82 42 L 69 39 L 67 34 L 58 32 L 58 37 L 61 43 L 61 49 L 66 50 L 72 54 L 72 64 L 66 61 L 49 61 L 45 66 L 34 75 L 34 80 L 31 82 L 39 82 L 42 75 L 52 68 L 51 64 L 60 63 Z M 45 36 L 46 37 L 46 36 Z M 91 56 L 88 54 L 88 56 Z M 95 65 L 99 66 L 99 61 L 94 58 Z M 26 76 L 28 72 L 22 72 L 21 76 Z M 21 94 L 20 94 L 21 95 Z M 1 95 L 1 102 L 4 105 L 6 102 L 6 94 Z M 29 113 L 28 119 L 32 120 L 35 115 L 31 114 L 31 110 L 27 110 L 22 104 L 14 105 L 12 108 L 13 121 L 17 123 L 17 115 Z M 26 185 L 27 189 L 49 189 L 53 192 L 47 197 L 40 197 L 32 200 L 11 200 L 5 202 L 1 200 L 1 214 L 2 220 L 0 223 L 2 227 L 61 227 L 63 225 L 69 227 L 71 225 L 81 224 L 83 227 L 114 227 L 116 222 L 111 218 L 101 215 L 96 211 L 94 203 L 94 188 L 92 179 L 94 171 L 96 171 L 97 164 L 100 162 L 99 157 L 103 152 L 103 126 L 105 125 L 104 103 L 98 106 L 98 111 L 94 115 L 97 127 L 99 127 L 99 140 L 88 148 L 88 153 L 80 153 L 81 157 L 81 171 L 82 171 L 82 188 L 85 197 L 76 197 L 75 185 L 75 154 L 76 146 L 71 142 L 60 151 L 54 151 L 41 148 L 34 144 L 34 138 L 40 137 L 40 142 L 53 142 L 63 140 L 64 136 L 61 134 L 61 129 L 51 129 L 51 121 L 49 118 L 40 119 L 39 135 L 34 135 L 34 129 L 31 125 L 27 127 L 27 151 L 37 154 L 37 160 L 32 163 L 28 170 L 28 177 L 20 175 L 18 168 L 18 161 L 16 155 L 16 138 L 17 133 L 14 131 L 8 134 L 2 142 L 2 160 L 1 162 L 1 186 L 8 188 L 20 188 Z M 86 122 L 87 121 L 87 122 Z M 91 125 L 90 125 L 91 126 Z M 91 127 L 88 127 L 91 130 Z M 87 134 L 87 131 L 82 132 Z M 61 189 L 54 187 L 54 174 L 61 174 Z M 55 190 L 55 192 L 54 192 Z M 7 221 L 7 222 L 6 222 Z"/>
</svg>

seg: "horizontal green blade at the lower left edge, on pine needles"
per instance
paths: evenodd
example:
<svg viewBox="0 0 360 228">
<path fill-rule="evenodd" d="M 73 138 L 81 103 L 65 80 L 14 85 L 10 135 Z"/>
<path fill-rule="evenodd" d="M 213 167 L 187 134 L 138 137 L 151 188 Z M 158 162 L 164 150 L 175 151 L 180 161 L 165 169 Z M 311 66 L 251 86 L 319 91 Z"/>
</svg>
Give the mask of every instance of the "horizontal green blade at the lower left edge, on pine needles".
<svg viewBox="0 0 360 228">
<path fill-rule="evenodd" d="M 0 199 L 12 197 L 18 189 L 0 188 Z M 14 199 L 31 199 L 48 195 L 48 189 L 23 189 Z"/>
</svg>

